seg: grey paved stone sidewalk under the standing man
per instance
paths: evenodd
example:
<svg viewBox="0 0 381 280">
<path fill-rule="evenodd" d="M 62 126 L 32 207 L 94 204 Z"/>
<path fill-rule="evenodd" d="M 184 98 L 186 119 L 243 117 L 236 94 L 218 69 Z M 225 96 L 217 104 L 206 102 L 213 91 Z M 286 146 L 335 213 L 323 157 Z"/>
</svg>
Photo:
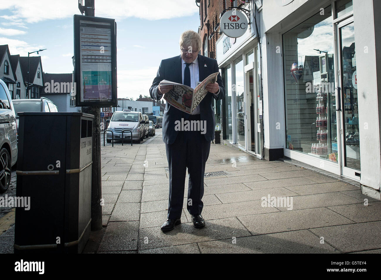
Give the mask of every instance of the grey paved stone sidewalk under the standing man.
<svg viewBox="0 0 381 280">
<path fill-rule="evenodd" d="M 211 144 L 206 226 L 193 227 L 186 191 L 182 224 L 163 233 L 169 179 L 161 130 L 132 147 L 102 147 L 101 158 L 104 228 L 91 232 L 84 253 L 381 253 L 381 202 L 314 171 Z M 271 207 L 268 196 L 292 198 L 292 210 Z"/>
</svg>

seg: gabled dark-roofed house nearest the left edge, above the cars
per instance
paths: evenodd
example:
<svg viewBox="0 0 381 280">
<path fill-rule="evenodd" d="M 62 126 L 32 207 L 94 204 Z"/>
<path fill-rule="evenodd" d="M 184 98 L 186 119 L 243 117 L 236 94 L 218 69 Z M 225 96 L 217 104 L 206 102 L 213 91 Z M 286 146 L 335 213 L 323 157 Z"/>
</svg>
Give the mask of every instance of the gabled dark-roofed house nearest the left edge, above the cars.
<svg viewBox="0 0 381 280">
<path fill-rule="evenodd" d="M 8 45 L 0 46 L 0 78 L 8 86 L 11 98 L 14 99 L 16 97 L 14 84 L 16 83 L 17 77 L 11 62 Z"/>
</svg>

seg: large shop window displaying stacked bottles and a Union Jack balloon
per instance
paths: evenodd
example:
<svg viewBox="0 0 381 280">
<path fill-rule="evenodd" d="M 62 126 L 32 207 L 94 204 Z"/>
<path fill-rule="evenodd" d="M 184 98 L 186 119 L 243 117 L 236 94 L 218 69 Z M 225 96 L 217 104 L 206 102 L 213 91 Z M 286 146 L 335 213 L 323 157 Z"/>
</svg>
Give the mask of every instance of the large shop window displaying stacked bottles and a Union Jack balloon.
<svg viewBox="0 0 381 280">
<path fill-rule="evenodd" d="M 328 6 L 323 15 L 319 12 L 283 34 L 285 142 L 287 149 L 336 161 L 331 15 L 331 6 Z"/>
</svg>

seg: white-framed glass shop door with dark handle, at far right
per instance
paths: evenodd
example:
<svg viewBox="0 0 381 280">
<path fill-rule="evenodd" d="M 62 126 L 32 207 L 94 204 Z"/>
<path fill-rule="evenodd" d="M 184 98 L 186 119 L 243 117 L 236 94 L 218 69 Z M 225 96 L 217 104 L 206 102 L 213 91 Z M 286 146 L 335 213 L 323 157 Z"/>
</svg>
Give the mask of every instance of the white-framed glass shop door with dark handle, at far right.
<svg viewBox="0 0 381 280">
<path fill-rule="evenodd" d="M 341 157 L 343 175 L 360 178 L 360 130 L 357 102 L 356 49 L 353 17 L 338 24 L 338 69 L 341 107 Z"/>
</svg>

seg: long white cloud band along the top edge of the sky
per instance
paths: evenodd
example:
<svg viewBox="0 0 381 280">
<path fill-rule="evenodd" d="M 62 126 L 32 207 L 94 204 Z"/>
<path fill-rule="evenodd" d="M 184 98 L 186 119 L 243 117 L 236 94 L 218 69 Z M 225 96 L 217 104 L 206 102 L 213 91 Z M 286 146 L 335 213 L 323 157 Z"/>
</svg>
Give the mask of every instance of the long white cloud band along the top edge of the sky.
<svg viewBox="0 0 381 280">
<path fill-rule="evenodd" d="M 4 2 L 4 1 L 3 1 Z M 189 0 L 113 0 L 96 1 L 95 15 L 105 18 L 140 18 L 147 20 L 179 18 L 199 13 L 199 8 L 194 1 Z M 143 7 L 142 7 L 143 6 Z M 146 7 L 150 7 L 147 9 Z M 11 10 L 12 15 L 1 16 L 11 24 L 21 24 L 21 20 L 27 23 L 44 21 L 46 19 L 71 18 L 73 14 L 80 14 L 78 2 L 70 1 L 63 3 L 62 0 L 30 1 L 17 0 L 2 3 L 1 10 Z M 36 16 L 38 15 L 38 16 Z"/>
</svg>

